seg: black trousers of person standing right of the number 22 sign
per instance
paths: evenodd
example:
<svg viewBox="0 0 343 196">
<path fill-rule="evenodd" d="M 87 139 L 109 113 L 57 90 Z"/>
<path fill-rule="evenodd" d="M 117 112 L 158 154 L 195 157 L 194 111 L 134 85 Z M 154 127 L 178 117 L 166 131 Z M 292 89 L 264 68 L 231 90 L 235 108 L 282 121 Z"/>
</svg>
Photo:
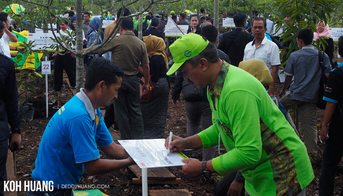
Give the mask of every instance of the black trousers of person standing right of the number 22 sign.
<svg viewBox="0 0 343 196">
<path fill-rule="evenodd" d="M 76 86 L 76 59 L 70 53 L 55 57 L 53 90 L 60 91 L 63 84 L 63 70 L 66 71 L 71 86 Z"/>
</svg>

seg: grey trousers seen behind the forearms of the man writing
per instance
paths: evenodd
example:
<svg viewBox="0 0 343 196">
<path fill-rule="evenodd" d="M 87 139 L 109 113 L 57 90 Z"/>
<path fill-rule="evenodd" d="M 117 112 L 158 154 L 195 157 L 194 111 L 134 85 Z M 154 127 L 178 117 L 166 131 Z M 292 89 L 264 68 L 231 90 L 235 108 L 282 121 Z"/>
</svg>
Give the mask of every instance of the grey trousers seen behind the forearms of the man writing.
<svg viewBox="0 0 343 196">
<path fill-rule="evenodd" d="M 187 114 L 187 137 L 200 132 L 200 122 L 202 130 L 212 125 L 212 111 L 208 101 L 185 101 L 185 109 Z M 202 161 L 213 159 L 215 152 L 216 147 L 204 148 L 202 150 Z M 198 157 L 199 154 L 200 149 L 193 150 L 192 157 Z"/>
</svg>

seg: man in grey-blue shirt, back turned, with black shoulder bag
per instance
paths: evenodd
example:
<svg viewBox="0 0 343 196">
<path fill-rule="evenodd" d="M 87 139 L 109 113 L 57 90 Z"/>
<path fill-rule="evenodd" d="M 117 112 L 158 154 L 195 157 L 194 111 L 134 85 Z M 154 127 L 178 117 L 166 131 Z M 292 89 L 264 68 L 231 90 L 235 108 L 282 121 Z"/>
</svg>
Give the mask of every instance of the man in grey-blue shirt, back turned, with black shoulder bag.
<svg viewBox="0 0 343 196">
<path fill-rule="evenodd" d="M 319 81 L 322 74 L 319 64 L 319 53 L 312 44 L 313 32 L 304 28 L 297 32 L 296 42 L 299 50 L 293 52 L 287 61 L 285 74 L 286 79 L 280 97 L 290 86 L 290 94 L 286 94 L 280 102 L 286 110 L 297 106 L 304 132 L 304 143 L 307 151 L 316 153 L 317 146 L 317 101 L 319 97 Z M 329 75 L 331 65 L 329 57 L 324 53 L 324 74 Z"/>
</svg>

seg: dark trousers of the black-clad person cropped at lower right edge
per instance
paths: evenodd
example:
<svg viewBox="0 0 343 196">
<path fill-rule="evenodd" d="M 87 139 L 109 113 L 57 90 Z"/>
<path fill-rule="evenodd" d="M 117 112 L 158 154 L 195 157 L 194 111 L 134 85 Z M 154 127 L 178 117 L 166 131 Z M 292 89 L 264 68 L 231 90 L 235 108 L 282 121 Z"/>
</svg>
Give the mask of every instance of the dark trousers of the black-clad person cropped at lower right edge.
<svg viewBox="0 0 343 196">
<path fill-rule="evenodd" d="M 329 137 L 330 139 L 325 142 L 323 158 L 321 160 L 319 196 L 334 195 L 335 173 L 343 155 L 343 142 L 335 141 L 335 137 L 333 135 L 329 135 Z M 343 187 L 341 190 L 341 196 L 343 196 Z"/>
</svg>

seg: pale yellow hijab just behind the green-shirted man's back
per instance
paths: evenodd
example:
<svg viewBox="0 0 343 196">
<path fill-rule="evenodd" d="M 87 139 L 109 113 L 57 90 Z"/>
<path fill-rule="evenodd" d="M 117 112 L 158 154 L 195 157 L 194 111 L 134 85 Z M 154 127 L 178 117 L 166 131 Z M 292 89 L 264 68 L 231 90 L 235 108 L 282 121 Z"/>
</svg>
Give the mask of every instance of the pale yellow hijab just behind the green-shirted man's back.
<svg viewBox="0 0 343 196">
<path fill-rule="evenodd" d="M 269 86 L 273 82 L 266 63 L 260 59 L 241 61 L 238 67 L 260 80 L 263 86 Z"/>
</svg>

